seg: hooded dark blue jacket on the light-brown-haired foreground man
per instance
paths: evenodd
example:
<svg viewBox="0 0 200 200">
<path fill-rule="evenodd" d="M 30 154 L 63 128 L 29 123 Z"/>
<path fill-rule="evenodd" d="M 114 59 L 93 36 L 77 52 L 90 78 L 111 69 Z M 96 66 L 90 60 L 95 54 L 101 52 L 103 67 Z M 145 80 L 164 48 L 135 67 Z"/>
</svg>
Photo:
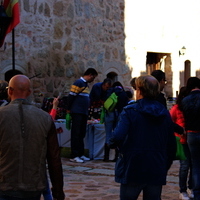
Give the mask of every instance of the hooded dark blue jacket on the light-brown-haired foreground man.
<svg viewBox="0 0 200 200">
<path fill-rule="evenodd" d="M 176 141 L 170 114 L 162 104 L 144 98 L 126 106 L 109 143 L 120 152 L 116 182 L 166 184 Z"/>
</svg>

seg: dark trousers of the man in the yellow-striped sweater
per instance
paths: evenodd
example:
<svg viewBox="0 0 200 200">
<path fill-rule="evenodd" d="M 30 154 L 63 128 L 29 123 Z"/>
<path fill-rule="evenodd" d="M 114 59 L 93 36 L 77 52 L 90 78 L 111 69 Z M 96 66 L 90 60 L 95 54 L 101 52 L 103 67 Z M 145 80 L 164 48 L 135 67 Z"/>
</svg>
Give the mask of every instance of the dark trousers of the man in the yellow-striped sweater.
<svg viewBox="0 0 200 200">
<path fill-rule="evenodd" d="M 75 158 L 84 155 L 87 115 L 72 113 L 71 117 L 71 157 Z"/>
</svg>

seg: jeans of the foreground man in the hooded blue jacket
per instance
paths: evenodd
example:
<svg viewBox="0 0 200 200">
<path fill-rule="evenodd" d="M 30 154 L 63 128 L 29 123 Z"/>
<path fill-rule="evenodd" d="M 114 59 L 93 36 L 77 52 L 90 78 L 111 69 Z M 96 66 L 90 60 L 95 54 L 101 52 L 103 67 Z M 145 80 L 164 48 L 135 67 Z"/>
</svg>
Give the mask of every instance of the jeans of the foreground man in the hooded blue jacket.
<svg viewBox="0 0 200 200">
<path fill-rule="evenodd" d="M 121 184 L 120 200 L 137 200 L 143 191 L 143 200 L 160 200 L 162 185 Z"/>
</svg>

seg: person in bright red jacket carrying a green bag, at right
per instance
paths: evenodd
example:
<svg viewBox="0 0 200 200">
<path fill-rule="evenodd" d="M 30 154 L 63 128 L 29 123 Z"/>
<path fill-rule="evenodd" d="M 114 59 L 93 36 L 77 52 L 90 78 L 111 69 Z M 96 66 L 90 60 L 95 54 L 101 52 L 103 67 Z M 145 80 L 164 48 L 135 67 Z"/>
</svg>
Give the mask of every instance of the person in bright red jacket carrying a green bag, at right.
<svg viewBox="0 0 200 200">
<path fill-rule="evenodd" d="M 179 95 L 176 100 L 176 104 L 171 108 L 170 114 L 172 117 L 172 121 L 183 128 L 185 128 L 185 119 L 183 116 L 183 112 L 181 110 L 181 102 L 182 99 L 187 95 L 186 87 L 182 87 L 180 89 Z M 179 187 L 180 187 L 180 195 L 179 199 L 189 200 L 193 198 L 192 192 L 192 166 L 191 166 L 191 155 L 187 144 L 186 134 L 179 135 L 178 133 L 174 133 L 175 136 L 180 137 L 180 142 L 183 144 L 184 152 L 186 155 L 186 160 L 180 160 L 180 169 L 179 169 Z M 189 173 L 190 171 L 190 173 Z M 189 178 L 188 178 L 189 174 Z M 188 186 L 187 186 L 188 183 Z M 187 193 L 187 188 L 190 189 L 190 194 Z"/>
</svg>

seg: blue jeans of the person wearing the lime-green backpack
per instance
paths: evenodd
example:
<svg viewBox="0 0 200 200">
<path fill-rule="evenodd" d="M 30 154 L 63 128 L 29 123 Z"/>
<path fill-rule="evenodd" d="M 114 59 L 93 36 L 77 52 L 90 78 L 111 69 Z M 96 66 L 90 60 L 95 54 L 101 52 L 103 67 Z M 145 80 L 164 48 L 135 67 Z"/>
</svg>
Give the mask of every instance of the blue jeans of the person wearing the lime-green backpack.
<svg viewBox="0 0 200 200">
<path fill-rule="evenodd" d="M 112 132 L 114 128 L 117 125 L 117 120 L 118 120 L 118 112 L 113 111 L 113 112 L 107 112 L 105 114 L 105 132 L 106 132 L 106 144 L 108 143 L 109 139 L 112 136 Z"/>
</svg>

